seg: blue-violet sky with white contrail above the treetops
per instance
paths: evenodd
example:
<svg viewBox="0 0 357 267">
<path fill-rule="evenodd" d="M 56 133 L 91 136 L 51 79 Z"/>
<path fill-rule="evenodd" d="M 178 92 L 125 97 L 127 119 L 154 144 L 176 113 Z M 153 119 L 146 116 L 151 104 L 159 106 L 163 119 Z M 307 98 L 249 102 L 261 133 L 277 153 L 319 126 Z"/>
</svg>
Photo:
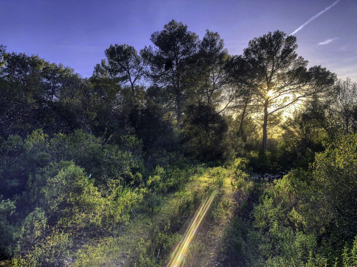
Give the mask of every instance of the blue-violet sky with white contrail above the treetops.
<svg viewBox="0 0 357 267">
<path fill-rule="evenodd" d="M 0 0 L 0 44 L 90 77 L 111 44 L 139 51 L 172 19 L 200 38 L 206 29 L 218 32 L 237 55 L 249 40 L 275 30 L 290 35 L 331 5 L 294 33 L 297 54 L 308 67 L 357 82 L 357 0 Z"/>
</svg>

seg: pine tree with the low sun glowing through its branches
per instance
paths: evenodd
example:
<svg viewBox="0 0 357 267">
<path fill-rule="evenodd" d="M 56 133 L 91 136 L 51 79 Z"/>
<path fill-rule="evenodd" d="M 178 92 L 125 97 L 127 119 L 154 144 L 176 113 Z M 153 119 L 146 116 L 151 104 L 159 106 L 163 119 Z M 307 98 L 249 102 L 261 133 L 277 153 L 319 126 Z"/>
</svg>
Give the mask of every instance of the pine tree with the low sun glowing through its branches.
<svg viewBox="0 0 357 267">
<path fill-rule="evenodd" d="M 252 89 L 254 104 L 263 114 L 263 151 L 267 149 L 268 119 L 275 112 L 311 96 L 330 93 L 336 75 L 321 66 L 307 70 L 298 57 L 296 37 L 281 31 L 254 38 L 244 49 L 239 82 Z M 247 79 L 248 77 L 248 79 Z"/>
</svg>

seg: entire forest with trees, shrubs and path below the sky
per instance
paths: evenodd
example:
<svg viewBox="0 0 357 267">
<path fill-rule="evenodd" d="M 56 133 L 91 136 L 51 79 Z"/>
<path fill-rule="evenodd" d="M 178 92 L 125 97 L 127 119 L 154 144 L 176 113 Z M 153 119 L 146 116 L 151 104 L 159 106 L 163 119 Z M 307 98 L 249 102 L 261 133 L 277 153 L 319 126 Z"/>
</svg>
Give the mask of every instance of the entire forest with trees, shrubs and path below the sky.
<svg viewBox="0 0 357 267">
<path fill-rule="evenodd" d="M 90 78 L 0 45 L 1 266 L 357 265 L 357 84 L 175 20 Z"/>
</svg>

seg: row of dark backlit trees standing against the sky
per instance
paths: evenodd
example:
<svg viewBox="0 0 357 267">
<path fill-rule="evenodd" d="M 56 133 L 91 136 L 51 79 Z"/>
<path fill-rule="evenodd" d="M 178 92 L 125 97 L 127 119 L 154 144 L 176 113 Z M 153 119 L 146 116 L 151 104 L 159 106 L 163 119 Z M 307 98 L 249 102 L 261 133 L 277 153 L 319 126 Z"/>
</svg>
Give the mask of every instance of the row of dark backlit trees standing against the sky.
<svg viewBox="0 0 357 267">
<path fill-rule="evenodd" d="M 228 54 L 217 32 L 207 30 L 200 40 L 174 20 L 150 40 L 152 46 L 139 53 L 126 44 L 110 45 L 89 79 L 38 56 L 6 53 L 2 46 L 1 136 L 37 128 L 111 133 L 115 124 L 131 133 L 124 130 L 124 118 L 139 106 L 160 109 L 180 131 L 198 107 L 239 117 L 239 136 L 251 117 L 262 126 L 266 151 L 267 127 L 281 119 L 284 108 L 337 92 L 336 75 L 321 66 L 307 69 L 308 61 L 296 54 L 296 37 L 281 31 L 254 38 L 239 56 Z"/>
</svg>

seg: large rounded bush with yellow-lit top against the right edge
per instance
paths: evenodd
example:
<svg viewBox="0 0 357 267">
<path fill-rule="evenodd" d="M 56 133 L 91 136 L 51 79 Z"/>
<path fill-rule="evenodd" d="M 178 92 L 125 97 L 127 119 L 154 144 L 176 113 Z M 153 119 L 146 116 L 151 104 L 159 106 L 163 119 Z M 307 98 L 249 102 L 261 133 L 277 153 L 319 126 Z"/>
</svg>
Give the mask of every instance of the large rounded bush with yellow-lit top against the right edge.
<svg viewBox="0 0 357 267">
<path fill-rule="evenodd" d="M 357 135 L 343 136 L 327 146 L 325 152 L 316 155 L 313 164 L 315 183 L 311 204 L 320 211 L 317 216 L 325 216 L 325 220 L 335 225 L 334 231 L 342 240 L 352 241 L 357 232 L 356 166 Z"/>
</svg>

